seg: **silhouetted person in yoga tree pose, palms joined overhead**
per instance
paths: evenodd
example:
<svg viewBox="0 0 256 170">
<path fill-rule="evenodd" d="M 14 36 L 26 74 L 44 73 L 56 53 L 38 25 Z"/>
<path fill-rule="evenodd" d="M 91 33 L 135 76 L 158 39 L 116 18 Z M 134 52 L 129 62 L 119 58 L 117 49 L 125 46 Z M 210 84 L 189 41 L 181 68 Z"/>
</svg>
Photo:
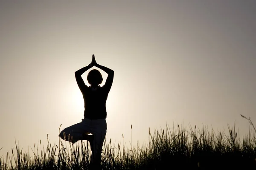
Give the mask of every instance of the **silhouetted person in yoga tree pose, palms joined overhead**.
<svg viewBox="0 0 256 170">
<path fill-rule="evenodd" d="M 93 69 L 87 75 L 88 87 L 84 84 L 81 75 L 88 69 L 96 66 L 108 74 L 104 86 L 101 73 Z M 107 133 L 107 111 L 106 101 L 111 89 L 114 71 L 99 65 L 93 55 L 92 62 L 84 68 L 75 72 L 76 82 L 84 98 L 84 119 L 80 123 L 72 125 L 61 131 L 60 137 L 66 141 L 76 143 L 79 140 L 88 140 L 92 150 L 90 163 L 99 165 L 101 162 L 102 145 Z M 88 134 L 92 135 L 88 135 Z"/>
</svg>

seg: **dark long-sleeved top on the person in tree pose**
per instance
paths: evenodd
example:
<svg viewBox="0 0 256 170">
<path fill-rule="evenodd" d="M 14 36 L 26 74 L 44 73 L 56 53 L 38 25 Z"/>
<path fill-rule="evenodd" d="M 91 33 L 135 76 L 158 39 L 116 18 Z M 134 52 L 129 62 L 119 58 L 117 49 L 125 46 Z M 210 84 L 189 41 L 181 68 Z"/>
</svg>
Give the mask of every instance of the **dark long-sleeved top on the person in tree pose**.
<svg viewBox="0 0 256 170">
<path fill-rule="evenodd" d="M 81 77 L 81 74 L 90 68 L 89 66 L 75 72 L 76 82 L 84 97 L 84 119 L 105 119 L 107 117 L 106 101 L 113 83 L 114 71 L 102 65 L 97 66 L 103 69 L 108 74 L 108 77 L 105 85 L 98 86 L 96 89 L 85 85 Z"/>
</svg>

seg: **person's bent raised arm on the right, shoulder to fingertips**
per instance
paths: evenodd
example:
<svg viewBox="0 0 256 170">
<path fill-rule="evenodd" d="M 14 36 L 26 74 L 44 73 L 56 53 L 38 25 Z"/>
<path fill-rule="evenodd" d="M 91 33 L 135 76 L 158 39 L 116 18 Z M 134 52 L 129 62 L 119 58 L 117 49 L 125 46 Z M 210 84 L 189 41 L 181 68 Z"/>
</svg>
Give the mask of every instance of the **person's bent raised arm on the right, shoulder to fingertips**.
<svg viewBox="0 0 256 170">
<path fill-rule="evenodd" d="M 95 60 L 95 57 L 93 55 L 93 61 L 92 61 L 93 65 L 95 65 L 96 67 L 102 69 L 103 71 L 105 71 L 107 74 L 108 74 L 108 77 L 106 79 L 106 82 L 105 82 L 105 85 L 104 85 L 104 88 L 107 89 L 107 91 L 110 91 L 111 89 L 111 86 L 112 86 L 112 83 L 113 83 L 113 79 L 114 79 L 114 71 L 111 70 L 110 68 L 107 68 L 103 65 L 99 65 L 96 60 Z"/>
</svg>

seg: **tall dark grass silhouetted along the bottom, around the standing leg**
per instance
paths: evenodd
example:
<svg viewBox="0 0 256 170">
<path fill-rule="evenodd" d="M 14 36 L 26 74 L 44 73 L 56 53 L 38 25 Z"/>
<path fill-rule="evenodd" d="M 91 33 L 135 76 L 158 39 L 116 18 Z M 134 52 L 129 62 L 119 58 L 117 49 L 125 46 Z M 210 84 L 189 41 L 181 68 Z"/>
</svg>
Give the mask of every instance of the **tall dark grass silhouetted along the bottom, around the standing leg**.
<svg viewBox="0 0 256 170">
<path fill-rule="evenodd" d="M 242 115 L 241 115 L 242 116 Z M 245 116 L 242 116 L 245 119 Z M 252 124 L 250 119 L 249 122 Z M 221 132 L 197 127 L 168 127 L 166 130 L 148 129 L 149 144 L 113 147 L 104 142 L 102 169 L 104 170 L 166 170 L 166 169 L 256 169 L 256 136 L 249 134 L 239 139 L 236 127 Z M 254 126 L 253 126 L 254 128 Z M 254 128 L 255 130 L 255 128 Z M 256 130 L 255 130 L 256 132 Z M 47 137 L 48 139 L 48 137 Z M 40 148 L 40 147 L 39 147 Z M 12 153 L 0 157 L 1 170 L 86 170 L 90 161 L 90 144 L 86 141 L 64 146 L 51 145 L 23 153 L 16 144 Z"/>
</svg>

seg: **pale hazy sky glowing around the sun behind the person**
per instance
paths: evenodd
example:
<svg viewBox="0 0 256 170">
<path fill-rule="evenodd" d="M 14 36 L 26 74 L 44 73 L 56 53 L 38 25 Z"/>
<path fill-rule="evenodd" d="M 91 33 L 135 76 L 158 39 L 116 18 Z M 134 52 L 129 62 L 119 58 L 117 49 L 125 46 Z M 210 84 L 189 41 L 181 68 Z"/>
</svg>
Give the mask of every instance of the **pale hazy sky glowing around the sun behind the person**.
<svg viewBox="0 0 256 170">
<path fill-rule="evenodd" d="M 0 0 L 0 23 L 0 156 L 81 122 L 74 72 L 92 54 L 115 71 L 107 142 L 129 146 L 131 125 L 142 145 L 148 127 L 256 124 L 255 0 Z"/>
</svg>

